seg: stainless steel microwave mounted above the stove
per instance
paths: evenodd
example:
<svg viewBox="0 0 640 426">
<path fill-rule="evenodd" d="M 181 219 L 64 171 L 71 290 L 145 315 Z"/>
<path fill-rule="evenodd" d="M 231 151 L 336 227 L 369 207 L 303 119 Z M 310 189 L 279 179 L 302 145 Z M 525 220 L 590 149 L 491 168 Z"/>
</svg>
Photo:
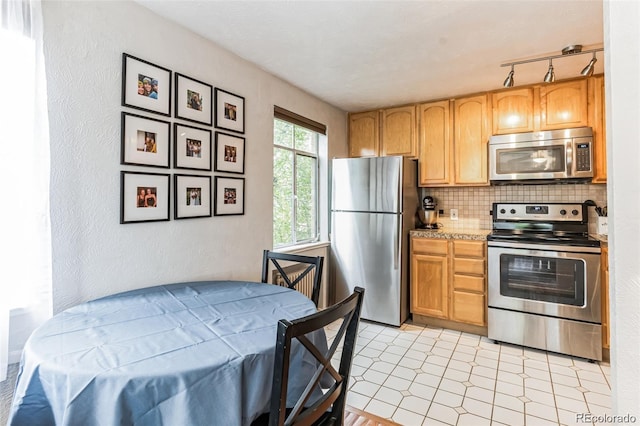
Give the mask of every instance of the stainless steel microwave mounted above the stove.
<svg viewBox="0 0 640 426">
<path fill-rule="evenodd" d="M 585 182 L 593 177 L 593 131 L 577 127 L 491 136 L 492 184 Z"/>
</svg>

